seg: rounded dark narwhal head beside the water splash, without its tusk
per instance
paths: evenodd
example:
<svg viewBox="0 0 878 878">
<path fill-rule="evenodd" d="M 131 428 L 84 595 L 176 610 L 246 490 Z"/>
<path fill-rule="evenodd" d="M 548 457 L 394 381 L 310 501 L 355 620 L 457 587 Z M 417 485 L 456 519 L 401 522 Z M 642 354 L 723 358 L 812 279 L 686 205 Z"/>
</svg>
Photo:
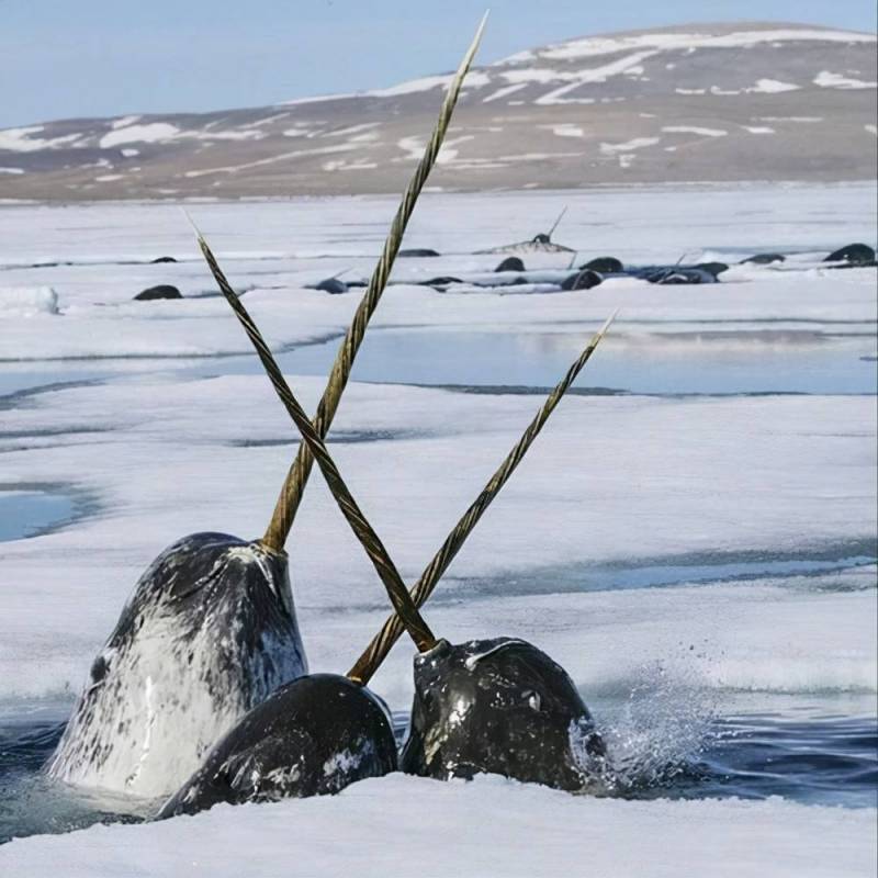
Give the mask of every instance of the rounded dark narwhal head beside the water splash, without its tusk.
<svg viewBox="0 0 878 878">
<path fill-rule="evenodd" d="M 587 789 L 604 742 L 564 668 L 522 640 L 440 643 L 415 658 L 401 767 L 447 780 L 480 773 Z"/>
</svg>

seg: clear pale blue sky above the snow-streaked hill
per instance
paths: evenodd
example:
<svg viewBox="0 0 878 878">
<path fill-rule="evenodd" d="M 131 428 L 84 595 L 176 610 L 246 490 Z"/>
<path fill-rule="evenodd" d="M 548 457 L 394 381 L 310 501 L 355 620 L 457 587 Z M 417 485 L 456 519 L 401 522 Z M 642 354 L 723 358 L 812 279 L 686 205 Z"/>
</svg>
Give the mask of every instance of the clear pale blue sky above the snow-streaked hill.
<svg viewBox="0 0 878 878">
<path fill-rule="evenodd" d="M 772 20 L 876 30 L 875 0 L 0 0 L 0 127 L 380 88 L 589 33 Z"/>
</svg>

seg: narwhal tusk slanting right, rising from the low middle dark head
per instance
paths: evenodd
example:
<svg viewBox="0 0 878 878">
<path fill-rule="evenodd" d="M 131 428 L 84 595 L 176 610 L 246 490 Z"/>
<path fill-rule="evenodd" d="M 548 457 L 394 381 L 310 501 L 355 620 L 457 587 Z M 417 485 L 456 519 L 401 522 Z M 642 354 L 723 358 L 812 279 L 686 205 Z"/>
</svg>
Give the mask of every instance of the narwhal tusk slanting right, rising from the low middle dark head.
<svg viewBox="0 0 878 878">
<path fill-rule="evenodd" d="M 491 476 L 491 480 L 485 485 L 482 493 L 475 498 L 470 508 L 466 509 L 451 533 L 448 534 L 442 547 L 412 588 L 412 597 L 417 607 L 423 607 L 424 603 L 432 594 L 436 584 L 448 570 L 449 564 L 454 560 L 454 555 L 457 555 L 466 538 L 473 531 L 476 524 L 479 524 L 479 519 L 482 517 L 485 509 L 487 509 L 494 497 L 497 496 L 500 488 L 515 472 L 516 466 L 521 462 L 521 459 L 561 401 L 561 397 L 576 380 L 579 371 L 588 362 L 595 348 L 600 344 L 600 339 L 606 335 L 617 314 L 618 309 L 610 315 L 604 326 L 600 327 L 598 333 L 588 342 L 588 346 L 578 356 L 573 365 L 571 365 L 564 378 L 549 394 L 542 407 L 537 413 L 537 416 L 528 425 L 528 428 L 518 442 L 516 442 L 515 448 L 509 452 L 506 460 L 499 465 L 494 475 Z M 384 627 L 381 631 L 373 638 L 369 646 L 367 646 L 362 655 L 357 660 L 357 663 L 353 665 L 348 676 L 363 685 L 367 684 L 375 671 L 378 671 L 393 644 L 398 640 L 403 630 L 399 619 L 396 616 L 391 616 L 384 622 Z"/>
</svg>

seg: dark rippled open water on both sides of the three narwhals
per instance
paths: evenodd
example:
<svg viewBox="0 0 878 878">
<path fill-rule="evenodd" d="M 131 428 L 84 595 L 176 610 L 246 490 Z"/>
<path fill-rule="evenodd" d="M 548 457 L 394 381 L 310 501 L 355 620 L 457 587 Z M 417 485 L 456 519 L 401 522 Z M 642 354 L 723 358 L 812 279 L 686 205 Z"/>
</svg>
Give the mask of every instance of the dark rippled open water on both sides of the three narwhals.
<svg viewBox="0 0 878 878">
<path fill-rule="evenodd" d="M 713 719 L 693 752 L 660 756 L 646 746 L 610 795 L 633 799 L 780 796 L 808 804 L 878 807 L 878 718 L 825 709 Z M 597 714 L 600 724 L 600 712 Z M 402 740 L 407 717 L 396 714 Z M 50 716 L 0 719 L 0 844 L 36 833 L 69 832 L 99 822 L 138 821 L 155 803 L 89 798 L 47 780 L 41 768 L 64 721 Z M 650 730 L 644 730 L 649 744 Z M 656 731 L 656 735 L 666 734 Z M 668 752 L 673 752 L 668 751 Z"/>
</svg>

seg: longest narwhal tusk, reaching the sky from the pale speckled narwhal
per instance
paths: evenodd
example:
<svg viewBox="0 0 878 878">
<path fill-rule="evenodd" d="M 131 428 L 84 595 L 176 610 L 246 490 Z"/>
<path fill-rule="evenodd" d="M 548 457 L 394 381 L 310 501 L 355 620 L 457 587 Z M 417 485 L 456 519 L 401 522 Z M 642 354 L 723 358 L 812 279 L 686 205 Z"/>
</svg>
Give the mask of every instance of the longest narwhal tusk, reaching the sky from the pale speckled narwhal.
<svg viewBox="0 0 878 878">
<path fill-rule="evenodd" d="M 341 399 L 341 394 L 350 378 L 353 359 L 363 340 L 365 328 L 381 300 L 384 288 L 387 285 L 393 261 L 403 241 L 406 225 L 412 216 L 412 212 L 415 210 L 415 203 L 420 194 L 420 190 L 424 188 L 424 183 L 432 166 L 436 164 L 436 158 L 442 146 L 442 139 L 451 122 L 451 114 L 454 111 L 463 79 L 470 69 L 470 65 L 472 64 L 482 40 L 482 33 L 487 22 L 487 14 L 488 13 L 485 12 L 479 25 L 479 30 L 475 33 L 475 37 L 466 49 L 466 54 L 463 56 L 463 60 L 454 78 L 451 80 L 451 85 L 448 87 L 448 92 L 439 110 L 436 127 L 424 151 L 424 156 L 420 159 L 420 164 L 403 194 L 396 215 L 393 218 L 391 230 L 387 233 L 387 239 L 384 241 L 384 249 L 381 254 L 381 258 L 375 264 L 375 269 L 369 281 L 369 286 L 357 308 L 357 313 L 353 315 L 353 320 L 345 336 L 345 340 L 341 342 L 336 361 L 333 363 L 333 371 L 329 373 L 326 390 L 324 391 L 323 398 L 317 406 L 317 413 L 314 417 L 315 432 L 322 438 L 329 431 L 336 409 Z M 302 494 L 305 491 L 305 485 L 311 475 L 311 468 L 313 464 L 314 459 L 309 447 L 307 443 L 301 444 L 295 461 L 286 474 L 280 496 L 274 506 L 274 511 L 271 516 L 271 521 L 262 538 L 262 542 L 275 551 L 283 549 L 283 544 L 286 542 L 299 505 L 302 502 Z"/>
</svg>

